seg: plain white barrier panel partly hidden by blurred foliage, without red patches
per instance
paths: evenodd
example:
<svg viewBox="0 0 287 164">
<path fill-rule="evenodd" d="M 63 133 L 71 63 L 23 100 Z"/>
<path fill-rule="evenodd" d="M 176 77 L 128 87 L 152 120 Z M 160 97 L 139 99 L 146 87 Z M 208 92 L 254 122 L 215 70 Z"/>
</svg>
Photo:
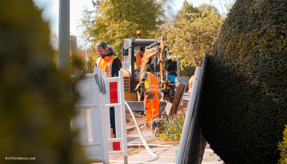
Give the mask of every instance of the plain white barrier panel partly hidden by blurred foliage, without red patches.
<svg viewBox="0 0 287 164">
<path fill-rule="evenodd" d="M 94 74 L 70 76 L 71 81 L 78 80 L 75 85 L 79 100 L 74 104 L 77 116 L 72 119 L 72 130 L 79 130 L 76 140 L 83 145 L 85 158 L 90 162 L 109 163 L 107 149 L 107 125 L 103 94 L 103 70 L 95 67 Z M 94 140 L 93 140 L 94 139 Z"/>
</svg>

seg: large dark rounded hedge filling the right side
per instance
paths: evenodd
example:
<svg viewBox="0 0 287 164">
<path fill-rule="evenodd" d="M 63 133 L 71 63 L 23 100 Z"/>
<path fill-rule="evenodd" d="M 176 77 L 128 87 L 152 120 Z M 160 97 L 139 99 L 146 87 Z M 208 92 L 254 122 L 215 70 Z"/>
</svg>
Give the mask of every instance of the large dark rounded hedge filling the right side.
<svg viewBox="0 0 287 164">
<path fill-rule="evenodd" d="M 201 125 L 226 164 L 280 158 L 287 121 L 286 6 L 286 0 L 237 0 L 213 47 Z"/>
</svg>

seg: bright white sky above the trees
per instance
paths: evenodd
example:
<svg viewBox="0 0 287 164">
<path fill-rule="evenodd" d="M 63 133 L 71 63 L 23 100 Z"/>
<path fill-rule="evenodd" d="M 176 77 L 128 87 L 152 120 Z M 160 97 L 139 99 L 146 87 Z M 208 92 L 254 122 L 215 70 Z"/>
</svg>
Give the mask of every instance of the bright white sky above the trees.
<svg viewBox="0 0 287 164">
<path fill-rule="evenodd" d="M 40 8 L 43 9 L 42 17 L 45 21 L 49 21 L 49 24 L 52 30 L 56 33 L 59 31 L 59 0 L 33 0 L 35 4 Z M 198 7 L 203 3 L 210 3 L 210 0 L 187 0 L 189 3 L 192 3 L 194 7 Z M 174 0 L 174 11 L 178 11 L 183 4 L 184 0 Z M 224 7 L 224 3 L 226 0 L 212 0 L 211 4 L 217 7 L 219 12 L 221 13 L 222 8 L 220 3 L 222 4 L 223 12 L 226 12 Z M 227 0 L 230 2 L 230 0 Z M 89 10 L 93 9 L 93 4 L 91 0 L 70 0 L 70 34 L 78 36 L 81 34 L 81 31 L 77 31 L 76 27 L 78 20 L 80 20 L 81 11 L 84 7 L 88 7 Z"/>
</svg>

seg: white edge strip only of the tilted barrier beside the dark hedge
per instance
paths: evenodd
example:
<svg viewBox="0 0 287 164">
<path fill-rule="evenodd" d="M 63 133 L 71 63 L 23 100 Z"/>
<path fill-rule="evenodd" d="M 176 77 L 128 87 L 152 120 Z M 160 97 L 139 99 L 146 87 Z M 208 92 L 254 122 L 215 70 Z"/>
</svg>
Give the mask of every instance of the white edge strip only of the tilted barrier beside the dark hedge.
<svg viewBox="0 0 287 164">
<path fill-rule="evenodd" d="M 194 114 L 194 107 L 197 97 L 197 91 L 199 87 L 200 77 L 201 77 L 201 70 L 202 67 L 196 67 L 194 80 L 192 83 L 192 90 L 190 93 L 190 98 L 186 110 L 186 116 L 184 119 L 184 125 L 182 129 L 182 134 L 180 138 L 179 148 L 178 148 L 178 155 L 176 158 L 176 164 L 185 164 L 186 154 L 188 149 L 188 142 L 190 139 L 191 127 L 192 127 L 192 119 Z"/>
</svg>

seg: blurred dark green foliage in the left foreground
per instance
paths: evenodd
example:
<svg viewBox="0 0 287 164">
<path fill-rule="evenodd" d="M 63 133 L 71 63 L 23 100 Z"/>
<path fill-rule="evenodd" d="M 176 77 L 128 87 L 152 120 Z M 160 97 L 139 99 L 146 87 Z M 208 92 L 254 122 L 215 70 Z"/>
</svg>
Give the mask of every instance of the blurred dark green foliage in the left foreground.
<svg viewBox="0 0 287 164">
<path fill-rule="evenodd" d="M 74 92 L 53 67 L 41 12 L 32 0 L 1 1 L 0 163 L 85 163 L 70 130 Z"/>
</svg>

